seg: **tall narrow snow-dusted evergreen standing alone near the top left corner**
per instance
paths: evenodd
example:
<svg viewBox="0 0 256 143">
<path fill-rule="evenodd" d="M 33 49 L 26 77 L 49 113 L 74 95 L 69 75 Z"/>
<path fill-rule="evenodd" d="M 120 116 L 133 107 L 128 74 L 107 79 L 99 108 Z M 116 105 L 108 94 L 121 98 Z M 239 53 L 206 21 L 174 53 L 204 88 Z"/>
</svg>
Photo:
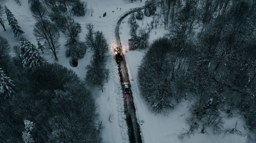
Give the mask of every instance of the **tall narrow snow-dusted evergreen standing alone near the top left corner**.
<svg viewBox="0 0 256 143">
<path fill-rule="evenodd" d="M 15 19 L 12 12 L 6 6 L 4 6 L 4 7 L 5 7 L 5 13 L 7 16 L 7 20 L 13 30 L 14 37 L 21 36 L 24 32 L 21 30 L 20 26 L 18 25 L 18 21 Z"/>
</svg>

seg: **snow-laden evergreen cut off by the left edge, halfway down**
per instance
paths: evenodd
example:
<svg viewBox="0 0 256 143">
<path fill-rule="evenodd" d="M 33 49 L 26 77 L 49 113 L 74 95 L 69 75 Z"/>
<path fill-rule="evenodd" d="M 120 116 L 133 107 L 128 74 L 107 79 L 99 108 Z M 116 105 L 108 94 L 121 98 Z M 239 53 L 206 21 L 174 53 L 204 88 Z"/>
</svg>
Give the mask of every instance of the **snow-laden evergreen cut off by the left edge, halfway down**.
<svg viewBox="0 0 256 143">
<path fill-rule="evenodd" d="M 3 94 L 4 98 L 10 97 L 14 93 L 12 81 L 0 68 L 0 94 Z"/>
</svg>

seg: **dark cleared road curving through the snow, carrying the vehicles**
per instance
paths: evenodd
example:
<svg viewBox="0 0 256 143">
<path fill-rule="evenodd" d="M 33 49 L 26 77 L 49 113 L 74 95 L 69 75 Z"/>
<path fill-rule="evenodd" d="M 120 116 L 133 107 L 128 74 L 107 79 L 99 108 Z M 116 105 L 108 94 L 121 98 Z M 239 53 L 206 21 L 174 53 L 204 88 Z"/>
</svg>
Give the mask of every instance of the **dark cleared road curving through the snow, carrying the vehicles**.
<svg viewBox="0 0 256 143">
<path fill-rule="evenodd" d="M 119 36 L 119 26 L 121 24 L 121 21 L 129 14 L 131 14 L 135 11 L 138 11 L 140 9 L 143 9 L 143 8 L 144 7 L 140 7 L 140 8 L 135 8 L 134 10 L 128 11 L 124 16 L 122 16 L 117 21 L 116 28 L 115 28 L 116 45 L 121 49 L 122 56 L 124 56 L 124 55 L 122 54 L 122 45 L 121 45 L 120 36 Z M 127 67 L 126 67 L 126 61 L 125 61 L 124 57 L 123 57 L 123 61 L 119 63 L 118 69 L 119 69 L 119 75 L 120 75 L 120 80 L 121 80 L 120 82 L 122 84 L 124 82 L 127 82 L 127 83 L 129 83 L 129 87 L 130 87 L 130 80 L 129 80 L 129 75 L 128 75 Z M 135 114 L 135 106 L 134 106 L 134 102 L 133 102 L 132 92 L 128 93 L 128 94 L 124 94 L 124 103 L 125 103 L 126 122 L 128 125 L 130 142 L 131 143 L 142 143 L 142 138 L 140 135 L 140 126 L 138 124 L 136 114 Z"/>
</svg>

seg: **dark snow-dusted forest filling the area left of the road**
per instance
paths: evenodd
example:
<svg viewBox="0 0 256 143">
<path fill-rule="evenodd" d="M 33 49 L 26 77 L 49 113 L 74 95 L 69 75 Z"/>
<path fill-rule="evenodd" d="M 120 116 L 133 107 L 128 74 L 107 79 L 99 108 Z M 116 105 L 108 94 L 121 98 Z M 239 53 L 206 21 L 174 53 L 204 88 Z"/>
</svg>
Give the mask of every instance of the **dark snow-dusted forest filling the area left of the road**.
<svg viewBox="0 0 256 143">
<path fill-rule="evenodd" d="M 81 0 L 29 0 L 28 5 L 37 20 L 33 35 L 38 47 L 22 36 L 24 32 L 12 11 L 0 5 L 3 29 L 4 21 L 8 21 L 20 41 L 10 47 L 8 39 L 0 36 L 0 142 L 103 142 L 100 133 L 104 124 L 86 83 L 94 80 L 90 71 L 105 69 L 100 70 L 102 75 L 95 74 L 98 80 L 94 80 L 103 92 L 103 81 L 109 78 L 103 62 L 109 44 L 91 24 L 87 25 L 86 40 L 80 41 L 81 25 L 71 18 L 86 12 L 92 15 L 93 8 L 87 9 L 87 3 Z M 87 82 L 71 69 L 48 63 L 40 54 L 39 50 L 47 51 L 58 61 L 60 32 L 66 38 L 66 56 L 77 60 L 84 57 L 86 49 L 96 52 L 99 62 L 88 65 Z"/>
</svg>

